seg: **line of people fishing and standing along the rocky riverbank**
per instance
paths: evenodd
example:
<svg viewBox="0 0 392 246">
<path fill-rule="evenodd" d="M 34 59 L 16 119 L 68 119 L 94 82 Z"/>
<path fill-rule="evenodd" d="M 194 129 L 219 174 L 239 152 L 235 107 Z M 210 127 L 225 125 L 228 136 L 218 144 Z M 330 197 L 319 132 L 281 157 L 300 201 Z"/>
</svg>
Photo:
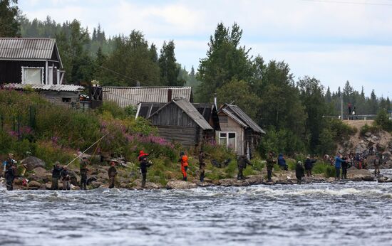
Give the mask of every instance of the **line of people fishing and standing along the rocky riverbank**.
<svg viewBox="0 0 392 246">
<path fill-rule="evenodd" d="M 205 167 L 206 161 L 205 158 L 208 156 L 204 151 L 200 151 L 198 154 L 198 161 L 199 161 L 199 175 L 200 175 L 200 182 L 204 182 L 205 179 Z M 148 159 L 149 154 L 145 153 L 143 150 L 140 151 L 138 156 L 139 161 L 139 169 L 140 174 L 142 176 L 141 186 L 145 188 L 146 180 L 147 180 L 147 173 L 148 168 L 153 165 L 153 163 Z M 376 153 L 376 158 L 373 160 L 374 166 L 374 175 L 380 175 L 380 166 L 382 164 L 382 155 Z M 314 164 L 317 161 L 317 157 L 312 159 L 310 155 L 306 157 L 304 164 L 301 161 L 298 161 L 295 166 L 295 174 L 296 174 L 296 181 L 298 184 L 302 183 L 302 178 L 304 176 L 310 177 L 312 176 L 312 169 L 314 168 Z M 329 162 L 331 166 L 334 166 L 336 174 L 335 180 L 339 179 L 346 179 L 347 178 L 347 169 L 350 166 L 356 166 L 357 169 L 367 169 L 368 168 L 368 159 L 367 156 L 361 156 L 359 154 L 349 154 L 349 155 L 342 155 L 340 153 L 336 154 L 336 156 L 331 157 L 328 155 L 324 156 L 324 161 Z M 188 156 L 185 154 L 184 151 L 180 152 L 180 159 L 178 159 L 180 163 L 180 171 L 182 173 L 182 181 L 187 181 L 187 169 L 188 169 Z M 108 169 L 108 180 L 109 180 L 109 188 L 115 187 L 115 177 L 118 175 L 115 161 L 110 161 L 110 168 Z M 286 159 L 284 158 L 283 154 L 279 154 L 277 159 L 274 157 L 274 153 L 269 151 L 266 159 L 266 168 L 267 168 L 267 182 L 272 182 L 272 171 L 274 169 L 274 165 L 277 164 L 279 169 L 288 170 L 288 165 Z M 8 159 L 3 162 L 4 165 L 4 176 L 6 179 L 6 188 L 9 191 L 14 189 L 14 179 L 18 177 L 17 171 L 17 161 L 14 159 L 13 154 L 9 154 Z M 62 189 L 63 190 L 70 190 L 71 189 L 71 175 L 70 171 L 68 171 L 68 165 L 61 166 L 61 164 L 56 161 L 53 164 L 52 169 L 52 182 L 51 182 L 51 189 L 58 190 L 58 182 L 61 181 Z M 253 166 L 252 163 L 247 159 L 247 155 L 241 155 L 237 158 L 237 180 L 243 180 L 244 177 L 244 169 L 247 168 L 247 165 Z M 94 178 L 87 178 L 88 168 L 91 166 L 90 161 L 83 157 L 81 158 L 79 171 L 80 171 L 80 181 L 74 181 L 73 183 L 78 183 L 78 186 L 82 190 L 86 190 L 88 183 L 90 183 Z M 22 185 L 26 186 L 27 181 L 26 178 L 23 179 Z"/>
</svg>

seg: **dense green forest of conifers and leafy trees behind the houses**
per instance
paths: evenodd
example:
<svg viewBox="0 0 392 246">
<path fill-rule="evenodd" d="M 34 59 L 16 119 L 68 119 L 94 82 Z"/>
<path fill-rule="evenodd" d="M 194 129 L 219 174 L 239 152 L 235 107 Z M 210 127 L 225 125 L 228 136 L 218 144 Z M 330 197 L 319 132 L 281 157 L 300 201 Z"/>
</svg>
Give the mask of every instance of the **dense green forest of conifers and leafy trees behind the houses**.
<svg viewBox="0 0 392 246">
<path fill-rule="evenodd" d="M 367 97 L 354 90 L 352 82 L 329 88 L 316 77 L 296 78 L 289 64 L 266 61 L 262 55 L 249 55 L 241 43 L 242 29 L 237 23 L 217 23 L 210 36 L 205 58 L 190 72 L 175 58 L 175 41 L 158 48 L 145 39 L 143 31 L 129 35 L 106 36 L 102 26 L 84 27 L 81 21 L 57 23 L 29 20 L 18 9 L 16 0 L 1 1 L 0 37 L 56 38 L 69 83 L 89 85 L 192 86 L 197 102 L 233 103 L 247 112 L 267 134 L 260 152 L 267 149 L 285 154 L 332 153 L 346 125 L 324 115 L 344 114 L 347 105 L 356 114 L 377 114 L 391 110 L 390 99 L 377 97 L 374 90 Z M 355 82 L 354 82 L 355 83 Z"/>
</svg>

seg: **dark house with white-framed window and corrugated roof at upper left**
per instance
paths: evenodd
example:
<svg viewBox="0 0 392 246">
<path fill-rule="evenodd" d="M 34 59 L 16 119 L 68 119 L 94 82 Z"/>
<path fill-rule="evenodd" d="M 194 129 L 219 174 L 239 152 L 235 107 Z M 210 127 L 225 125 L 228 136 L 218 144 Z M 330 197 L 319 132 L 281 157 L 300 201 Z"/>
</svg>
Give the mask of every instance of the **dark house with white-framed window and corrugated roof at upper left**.
<svg viewBox="0 0 392 246">
<path fill-rule="evenodd" d="M 0 38 L 0 85 L 61 85 L 64 71 L 53 38 Z"/>
</svg>

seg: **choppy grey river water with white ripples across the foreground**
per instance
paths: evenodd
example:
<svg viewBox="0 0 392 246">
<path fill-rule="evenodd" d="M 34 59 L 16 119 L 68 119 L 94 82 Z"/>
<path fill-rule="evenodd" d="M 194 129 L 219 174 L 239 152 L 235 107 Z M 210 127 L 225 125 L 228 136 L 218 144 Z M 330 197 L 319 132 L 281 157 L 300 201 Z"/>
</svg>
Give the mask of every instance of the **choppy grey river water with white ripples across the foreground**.
<svg viewBox="0 0 392 246">
<path fill-rule="evenodd" d="M 0 245 L 391 245 L 392 183 L 0 190 Z"/>
</svg>

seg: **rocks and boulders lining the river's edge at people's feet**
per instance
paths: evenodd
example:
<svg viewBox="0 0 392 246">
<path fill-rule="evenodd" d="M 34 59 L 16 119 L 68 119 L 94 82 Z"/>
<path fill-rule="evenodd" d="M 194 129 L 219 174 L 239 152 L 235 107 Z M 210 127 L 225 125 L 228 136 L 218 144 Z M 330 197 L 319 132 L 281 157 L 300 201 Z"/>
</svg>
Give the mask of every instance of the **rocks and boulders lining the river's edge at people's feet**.
<svg viewBox="0 0 392 246">
<path fill-rule="evenodd" d="M 78 176 L 78 171 L 74 170 L 73 173 L 73 190 L 79 190 L 78 182 L 80 180 Z M 140 178 L 130 181 L 128 173 L 126 171 L 119 169 L 118 170 L 118 178 L 117 178 L 117 188 L 128 188 L 140 190 L 143 189 L 141 187 Z M 91 174 L 89 177 L 94 177 L 93 181 L 89 183 L 88 188 L 94 189 L 98 187 L 107 188 L 108 187 L 108 176 L 107 176 L 107 166 L 97 166 L 91 170 Z M 296 184 L 296 177 L 294 171 L 277 171 L 274 173 L 272 177 L 272 182 L 267 182 L 265 178 L 265 173 L 261 173 L 259 175 L 250 175 L 244 180 L 237 180 L 237 178 L 225 178 L 220 180 L 209 180 L 205 178 L 205 182 L 201 183 L 197 180 L 192 181 L 179 181 L 179 180 L 170 180 L 167 182 L 165 186 L 160 183 L 146 183 L 146 189 L 190 189 L 197 187 L 207 187 L 207 186 L 252 186 L 252 185 L 290 185 Z M 14 181 L 14 189 L 24 189 L 24 190 L 47 190 L 51 188 L 51 172 L 43 169 L 42 167 L 36 167 L 32 169 L 27 177 L 29 179 L 29 183 L 27 186 L 22 186 L 22 179 L 18 178 Z M 349 169 L 347 173 L 347 178 L 344 181 L 378 181 L 380 183 L 392 182 L 392 179 L 387 177 L 380 177 L 377 179 L 374 178 L 373 173 L 368 170 L 359 170 L 354 167 Z M 316 174 L 311 177 L 304 177 L 302 179 L 302 183 L 334 183 L 336 182 L 334 178 L 326 178 L 323 174 Z M 61 188 L 61 182 L 59 182 L 59 187 Z"/>
</svg>

